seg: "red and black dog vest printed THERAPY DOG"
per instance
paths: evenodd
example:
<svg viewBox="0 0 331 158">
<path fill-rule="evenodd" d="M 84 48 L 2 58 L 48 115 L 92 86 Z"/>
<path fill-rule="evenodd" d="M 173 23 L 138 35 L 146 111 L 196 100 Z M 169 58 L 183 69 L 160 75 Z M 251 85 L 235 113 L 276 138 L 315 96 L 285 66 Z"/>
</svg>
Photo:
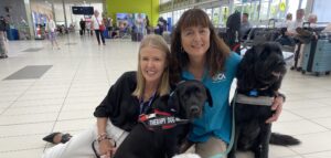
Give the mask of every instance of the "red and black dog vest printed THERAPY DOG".
<svg viewBox="0 0 331 158">
<path fill-rule="evenodd" d="M 154 109 L 152 114 L 141 114 L 139 123 L 142 123 L 149 130 L 163 130 L 173 128 L 179 124 L 186 124 L 189 119 L 181 119 L 170 113 Z"/>
</svg>

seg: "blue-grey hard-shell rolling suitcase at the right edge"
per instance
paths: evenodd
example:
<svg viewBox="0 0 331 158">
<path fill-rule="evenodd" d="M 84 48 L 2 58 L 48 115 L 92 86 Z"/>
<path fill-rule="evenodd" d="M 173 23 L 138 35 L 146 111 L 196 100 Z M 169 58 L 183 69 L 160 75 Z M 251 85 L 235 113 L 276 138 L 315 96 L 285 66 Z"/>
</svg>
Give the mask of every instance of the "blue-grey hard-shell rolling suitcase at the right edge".
<svg viewBox="0 0 331 158">
<path fill-rule="evenodd" d="M 302 74 L 306 72 L 327 75 L 331 71 L 331 34 L 319 35 L 318 40 L 308 43 L 303 49 Z"/>
</svg>

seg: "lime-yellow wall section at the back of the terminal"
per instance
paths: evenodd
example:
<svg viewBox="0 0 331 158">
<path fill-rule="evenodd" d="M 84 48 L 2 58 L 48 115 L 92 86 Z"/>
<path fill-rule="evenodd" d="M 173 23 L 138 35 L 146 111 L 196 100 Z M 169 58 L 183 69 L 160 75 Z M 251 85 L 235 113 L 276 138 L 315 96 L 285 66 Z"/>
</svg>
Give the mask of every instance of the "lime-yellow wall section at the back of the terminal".
<svg viewBox="0 0 331 158">
<path fill-rule="evenodd" d="M 106 0 L 107 14 L 116 21 L 116 13 L 146 13 L 152 27 L 159 19 L 159 0 Z"/>
</svg>

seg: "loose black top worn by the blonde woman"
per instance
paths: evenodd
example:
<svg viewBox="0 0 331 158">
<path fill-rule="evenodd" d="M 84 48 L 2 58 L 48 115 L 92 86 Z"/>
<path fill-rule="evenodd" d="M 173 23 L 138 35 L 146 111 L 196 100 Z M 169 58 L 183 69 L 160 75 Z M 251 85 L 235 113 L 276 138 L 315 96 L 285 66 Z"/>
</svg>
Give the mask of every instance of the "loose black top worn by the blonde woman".
<svg viewBox="0 0 331 158">
<path fill-rule="evenodd" d="M 130 131 L 139 117 L 139 99 L 132 95 L 136 86 L 136 72 L 124 73 L 96 107 L 94 116 L 108 117 L 115 126 Z"/>
</svg>

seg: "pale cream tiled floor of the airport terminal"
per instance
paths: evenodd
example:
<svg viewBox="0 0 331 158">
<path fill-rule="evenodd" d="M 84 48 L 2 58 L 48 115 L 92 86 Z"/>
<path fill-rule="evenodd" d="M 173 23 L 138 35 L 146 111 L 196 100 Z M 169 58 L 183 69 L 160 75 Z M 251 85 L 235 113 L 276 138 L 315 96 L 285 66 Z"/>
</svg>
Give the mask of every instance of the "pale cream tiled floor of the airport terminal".
<svg viewBox="0 0 331 158">
<path fill-rule="evenodd" d="M 61 36 L 61 50 L 47 41 L 10 42 L 9 59 L 0 60 L 0 158 L 38 158 L 49 147 L 46 134 L 77 134 L 95 123 L 93 110 L 109 86 L 136 69 L 139 43 L 107 40 L 98 46 L 94 38 Z M 3 80 L 29 65 L 52 67 L 41 78 Z M 302 144 L 271 146 L 270 158 L 331 157 L 331 76 L 289 71 L 281 92 L 287 102 L 273 130 Z"/>
</svg>

